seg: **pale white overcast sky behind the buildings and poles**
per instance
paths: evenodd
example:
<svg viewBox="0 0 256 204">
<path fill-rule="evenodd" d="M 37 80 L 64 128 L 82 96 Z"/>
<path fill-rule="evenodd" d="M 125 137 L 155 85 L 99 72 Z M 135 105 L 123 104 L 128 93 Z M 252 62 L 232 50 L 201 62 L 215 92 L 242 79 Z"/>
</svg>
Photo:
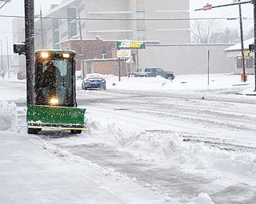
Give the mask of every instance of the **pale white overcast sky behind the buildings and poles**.
<svg viewBox="0 0 256 204">
<path fill-rule="evenodd" d="M 170 0 L 174 1 L 174 0 Z M 242 0 L 245 1 L 245 0 Z M 57 4 L 62 2 L 61 0 L 34 0 L 34 14 L 40 14 L 40 7 L 42 13 L 46 13 L 50 9 L 51 4 Z M 177 1 L 178 2 L 178 1 Z M 206 11 L 194 11 L 200 9 L 206 5 L 206 3 L 212 6 L 218 6 L 226 3 L 231 3 L 233 0 L 190 0 L 190 18 L 238 18 L 238 6 L 228 6 L 222 8 L 216 8 Z M 0 5 L 2 6 L 2 4 Z M 253 27 L 253 5 L 248 3 L 242 5 L 242 15 L 245 18 L 250 18 L 244 21 L 244 29 L 248 30 Z M 6 3 L 0 10 L 0 15 L 24 15 L 24 1 L 23 0 L 11 0 L 10 3 Z M 8 37 L 8 44 L 10 52 L 12 53 L 12 23 L 13 18 L 0 17 L 0 40 L 2 40 L 2 49 L 6 50 L 6 37 Z M 229 26 L 239 26 L 238 21 L 223 21 Z M 3 54 L 5 54 L 3 52 Z"/>
</svg>

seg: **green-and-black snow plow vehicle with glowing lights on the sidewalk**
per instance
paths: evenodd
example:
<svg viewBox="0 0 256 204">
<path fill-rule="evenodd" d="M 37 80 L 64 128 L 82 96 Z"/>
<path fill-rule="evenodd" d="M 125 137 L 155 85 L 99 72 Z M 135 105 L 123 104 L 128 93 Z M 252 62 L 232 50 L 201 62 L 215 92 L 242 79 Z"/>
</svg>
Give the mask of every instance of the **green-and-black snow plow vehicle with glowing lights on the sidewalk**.
<svg viewBox="0 0 256 204">
<path fill-rule="evenodd" d="M 86 130 L 85 108 L 77 108 L 75 52 L 71 50 L 35 51 L 34 104 L 26 112 L 28 134 L 44 129 Z"/>
</svg>

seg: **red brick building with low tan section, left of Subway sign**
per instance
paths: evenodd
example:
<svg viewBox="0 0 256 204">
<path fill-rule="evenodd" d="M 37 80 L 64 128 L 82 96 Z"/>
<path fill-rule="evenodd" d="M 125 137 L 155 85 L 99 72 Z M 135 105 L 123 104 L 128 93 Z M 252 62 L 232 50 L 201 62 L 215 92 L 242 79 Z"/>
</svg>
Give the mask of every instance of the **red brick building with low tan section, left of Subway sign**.
<svg viewBox="0 0 256 204">
<path fill-rule="evenodd" d="M 74 50 L 76 69 L 81 70 L 82 60 L 84 61 L 84 73 L 102 73 L 118 75 L 118 58 L 116 58 L 116 41 L 104 41 L 99 37 L 90 40 L 69 40 L 62 41 L 60 49 Z M 81 52 L 81 49 L 84 51 Z M 136 56 L 136 50 L 131 53 Z M 135 57 L 134 57 L 135 58 Z M 134 61 L 132 61 L 134 62 Z M 121 76 L 126 76 L 131 67 L 136 67 L 134 63 L 126 64 L 125 59 L 121 59 Z"/>
</svg>

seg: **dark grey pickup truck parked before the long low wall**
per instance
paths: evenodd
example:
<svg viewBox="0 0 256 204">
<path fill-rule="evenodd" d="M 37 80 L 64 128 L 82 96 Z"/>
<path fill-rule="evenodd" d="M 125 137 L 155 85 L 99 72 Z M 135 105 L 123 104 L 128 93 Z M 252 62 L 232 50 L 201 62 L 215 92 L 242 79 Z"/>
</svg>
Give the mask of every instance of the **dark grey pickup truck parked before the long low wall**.
<svg viewBox="0 0 256 204">
<path fill-rule="evenodd" d="M 144 72 L 134 73 L 134 77 L 157 77 L 161 76 L 168 80 L 174 80 L 175 74 L 173 72 L 166 72 L 159 67 L 148 67 Z"/>
</svg>

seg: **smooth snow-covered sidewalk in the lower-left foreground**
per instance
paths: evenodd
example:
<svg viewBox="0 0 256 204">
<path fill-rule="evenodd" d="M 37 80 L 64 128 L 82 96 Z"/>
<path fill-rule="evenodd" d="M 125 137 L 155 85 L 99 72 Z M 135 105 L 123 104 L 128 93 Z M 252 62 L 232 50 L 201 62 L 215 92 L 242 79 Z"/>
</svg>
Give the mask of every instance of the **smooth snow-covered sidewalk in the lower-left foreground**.
<svg viewBox="0 0 256 204">
<path fill-rule="evenodd" d="M 136 182 L 65 160 L 33 136 L 0 134 L 0 203 L 162 203 Z M 124 194 L 124 192 L 126 192 Z"/>
</svg>

